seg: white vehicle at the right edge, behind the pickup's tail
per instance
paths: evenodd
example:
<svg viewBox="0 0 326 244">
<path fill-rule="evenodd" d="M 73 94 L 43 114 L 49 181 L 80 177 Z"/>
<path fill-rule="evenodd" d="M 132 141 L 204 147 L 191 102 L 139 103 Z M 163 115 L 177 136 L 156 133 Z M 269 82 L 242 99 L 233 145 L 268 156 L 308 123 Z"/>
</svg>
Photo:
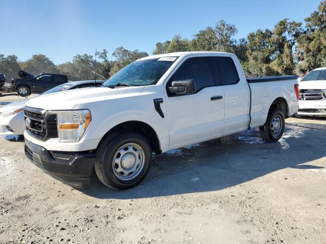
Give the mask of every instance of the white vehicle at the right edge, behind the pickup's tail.
<svg viewBox="0 0 326 244">
<path fill-rule="evenodd" d="M 298 114 L 326 116 L 326 67 L 312 70 L 298 81 L 300 88 Z"/>
</svg>

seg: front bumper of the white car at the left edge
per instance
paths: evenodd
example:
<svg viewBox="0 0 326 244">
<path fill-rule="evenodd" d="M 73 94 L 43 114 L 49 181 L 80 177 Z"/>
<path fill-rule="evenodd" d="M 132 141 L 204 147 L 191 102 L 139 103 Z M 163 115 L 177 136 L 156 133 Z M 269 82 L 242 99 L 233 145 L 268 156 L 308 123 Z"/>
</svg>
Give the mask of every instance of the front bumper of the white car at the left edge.
<svg viewBox="0 0 326 244">
<path fill-rule="evenodd" d="M 22 135 L 25 131 L 24 112 L 0 116 L 0 135 Z"/>
</svg>

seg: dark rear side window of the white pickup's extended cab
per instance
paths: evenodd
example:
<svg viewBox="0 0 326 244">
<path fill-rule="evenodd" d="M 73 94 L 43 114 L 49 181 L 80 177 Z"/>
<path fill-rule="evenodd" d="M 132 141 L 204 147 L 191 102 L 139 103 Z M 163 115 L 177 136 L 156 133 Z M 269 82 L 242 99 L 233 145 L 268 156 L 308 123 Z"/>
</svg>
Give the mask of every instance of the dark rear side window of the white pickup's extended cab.
<svg viewBox="0 0 326 244">
<path fill-rule="evenodd" d="M 212 57 L 212 67 L 222 85 L 238 83 L 238 72 L 231 57 Z"/>
</svg>

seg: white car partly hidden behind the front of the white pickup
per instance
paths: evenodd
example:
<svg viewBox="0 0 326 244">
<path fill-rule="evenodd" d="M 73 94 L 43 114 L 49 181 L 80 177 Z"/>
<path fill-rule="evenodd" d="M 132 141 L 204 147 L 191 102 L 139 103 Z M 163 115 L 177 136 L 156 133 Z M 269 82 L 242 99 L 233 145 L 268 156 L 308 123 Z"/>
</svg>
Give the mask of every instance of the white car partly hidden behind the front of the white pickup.
<svg viewBox="0 0 326 244">
<path fill-rule="evenodd" d="M 41 95 L 63 92 L 64 90 L 87 88 L 92 86 L 101 86 L 104 80 L 83 80 L 71 81 L 53 87 Z M 40 95 L 40 96 L 41 96 Z M 0 108 L 0 135 L 22 135 L 25 131 L 24 107 L 29 99 L 24 99 L 18 102 L 10 103 Z M 55 101 L 54 101 L 55 102 Z"/>
</svg>

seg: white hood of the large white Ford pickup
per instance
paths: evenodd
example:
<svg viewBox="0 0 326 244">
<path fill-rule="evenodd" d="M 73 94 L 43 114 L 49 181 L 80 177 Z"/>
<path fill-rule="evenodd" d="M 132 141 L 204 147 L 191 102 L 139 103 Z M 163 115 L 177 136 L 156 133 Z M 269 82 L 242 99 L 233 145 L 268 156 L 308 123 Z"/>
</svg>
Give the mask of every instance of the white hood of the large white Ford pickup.
<svg viewBox="0 0 326 244">
<path fill-rule="evenodd" d="M 113 89 L 108 87 L 90 87 L 64 90 L 60 93 L 52 93 L 33 98 L 26 103 L 26 106 L 45 110 L 73 109 L 77 104 L 138 96 L 144 87 L 130 86 Z"/>
</svg>

